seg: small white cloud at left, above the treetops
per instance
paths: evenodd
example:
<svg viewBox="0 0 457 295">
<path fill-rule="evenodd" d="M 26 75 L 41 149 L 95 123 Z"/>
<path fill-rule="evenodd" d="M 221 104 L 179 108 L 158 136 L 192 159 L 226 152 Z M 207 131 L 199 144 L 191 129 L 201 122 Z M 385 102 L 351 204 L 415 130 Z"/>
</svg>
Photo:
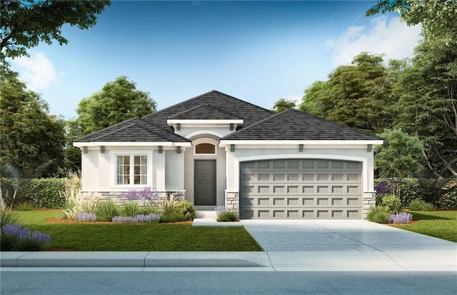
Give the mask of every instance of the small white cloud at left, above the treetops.
<svg viewBox="0 0 457 295">
<path fill-rule="evenodd" d="M 54 65 L 43 53 L 39 52 L 30 57 L 22 56 L 14 59 L 19 66 L 19 76 L 27 84 L 27 88 L 40 91 L 49 87 L 53 82 L 58 81 Z"/>
</svg>

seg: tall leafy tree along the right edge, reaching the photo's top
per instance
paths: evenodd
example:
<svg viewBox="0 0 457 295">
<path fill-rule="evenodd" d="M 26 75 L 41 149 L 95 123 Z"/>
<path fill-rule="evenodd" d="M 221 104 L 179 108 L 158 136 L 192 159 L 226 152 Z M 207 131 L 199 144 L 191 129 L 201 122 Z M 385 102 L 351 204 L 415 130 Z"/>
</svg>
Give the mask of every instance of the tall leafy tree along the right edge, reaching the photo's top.
<svg viewBox="0 0 457 295">
<path fill-rule="evenodd" d="M 367 15 L 398 11 L 408 25 L 422 24 L 411 69 L 401 79 L 397 126 L 425 145 L 428 169 L 457 176 L 457 1 L 378 1 Z"/>
</svg>

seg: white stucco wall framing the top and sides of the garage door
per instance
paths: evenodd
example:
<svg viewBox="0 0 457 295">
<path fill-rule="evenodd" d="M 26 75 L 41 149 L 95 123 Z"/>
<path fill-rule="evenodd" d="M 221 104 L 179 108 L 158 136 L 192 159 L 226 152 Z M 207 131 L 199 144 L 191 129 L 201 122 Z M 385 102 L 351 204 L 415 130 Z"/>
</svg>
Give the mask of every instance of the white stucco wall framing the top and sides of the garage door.
<svg viewBox="0 0 457 295">
<path fill-rule="evenodd" d="M 239 189 L 239 163 L 241 161 L 258 161 L 263 159 L 336 159 L 344 161 L 358 161 L 362 163 L 363 191 L 373 191 L 373 151 L 354 149 L 348 146 L 338 149 L 304 149 L 270 148 L 270 149 L 243 149 L 236 146 L 234 152 L 227 148 L 226 174 L 227 190 Z"/>
</svg>

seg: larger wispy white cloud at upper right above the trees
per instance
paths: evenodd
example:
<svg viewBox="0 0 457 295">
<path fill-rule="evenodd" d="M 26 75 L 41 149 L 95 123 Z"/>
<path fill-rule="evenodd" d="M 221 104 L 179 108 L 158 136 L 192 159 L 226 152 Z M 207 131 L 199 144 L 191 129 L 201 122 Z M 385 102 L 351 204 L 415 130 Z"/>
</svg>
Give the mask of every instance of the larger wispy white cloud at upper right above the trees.
<svg viewBox="0 0 457 295">
<path fill-rule="evenodd" d="M 421 26 L 407 26 L 399 17 L 380 16 L 367 27 L 350 26 L 337 39 L 328 40 L 326 46 L 332 50 L 333 66 L 350 64 L 362 51 L 386 54 L 385 61 L 403 59 L 413 56 L 420 33 Z"/>
</svg>

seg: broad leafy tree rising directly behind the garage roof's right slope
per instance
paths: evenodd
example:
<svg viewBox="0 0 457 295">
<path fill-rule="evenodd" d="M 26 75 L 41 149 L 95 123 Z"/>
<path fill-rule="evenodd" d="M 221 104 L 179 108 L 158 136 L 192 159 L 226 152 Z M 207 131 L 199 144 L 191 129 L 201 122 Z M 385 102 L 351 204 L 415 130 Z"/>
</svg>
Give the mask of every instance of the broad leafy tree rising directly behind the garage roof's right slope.
<svg viewBox="0 0 457 295">
<path fill-rule="evenodd" d="M 328 81 L 318 81 L 305 91 L 300 109 L 351 127 L 381 132 L 391 126 L 393 89 L 403 61 L 383 66 L 379 54 L 362 52 L 351 65 L 338 66 Z"/>
</svg>

